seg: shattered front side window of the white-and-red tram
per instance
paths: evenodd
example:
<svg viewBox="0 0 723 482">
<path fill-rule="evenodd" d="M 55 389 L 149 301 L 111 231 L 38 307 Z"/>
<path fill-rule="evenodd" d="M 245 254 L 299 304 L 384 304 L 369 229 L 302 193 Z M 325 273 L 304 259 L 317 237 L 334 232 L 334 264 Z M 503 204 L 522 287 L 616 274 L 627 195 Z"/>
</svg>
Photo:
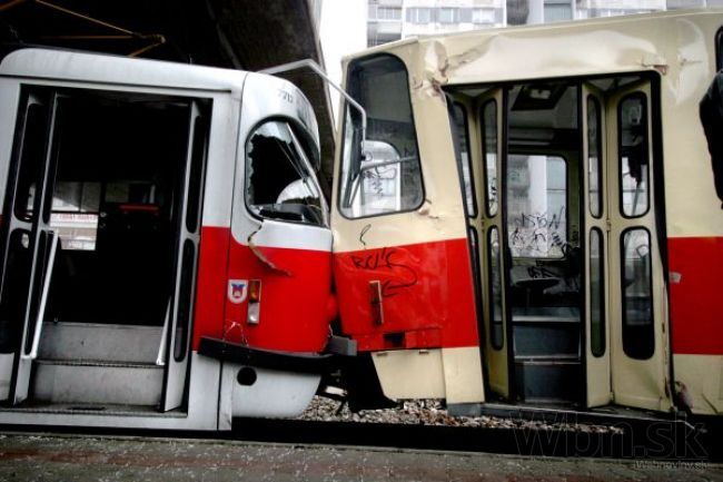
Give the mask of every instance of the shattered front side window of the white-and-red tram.
<svg viewBox="0 0 723 482">
<path fill-rule="evenodd" d="M 246 204 L 263 218 L 327 224 L 321 189 L 311 165 L 285 121 L 269 120 L 248 137 Z"/>
</svg>

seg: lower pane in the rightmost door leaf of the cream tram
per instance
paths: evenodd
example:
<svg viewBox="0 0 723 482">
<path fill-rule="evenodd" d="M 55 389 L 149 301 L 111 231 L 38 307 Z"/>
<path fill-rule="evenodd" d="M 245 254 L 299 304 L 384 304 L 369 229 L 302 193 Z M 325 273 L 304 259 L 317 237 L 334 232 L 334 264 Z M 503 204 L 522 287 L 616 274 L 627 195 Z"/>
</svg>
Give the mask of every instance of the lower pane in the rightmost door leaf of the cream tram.
<svg viewBox="0 0 723 482">
<path fill-rule="evenodd" d="M 651 288 L 651 236 L 646 229 L 623 233 L 623 350 L 632 358 L 653 356 L 653 293 Z"/>
</svg>

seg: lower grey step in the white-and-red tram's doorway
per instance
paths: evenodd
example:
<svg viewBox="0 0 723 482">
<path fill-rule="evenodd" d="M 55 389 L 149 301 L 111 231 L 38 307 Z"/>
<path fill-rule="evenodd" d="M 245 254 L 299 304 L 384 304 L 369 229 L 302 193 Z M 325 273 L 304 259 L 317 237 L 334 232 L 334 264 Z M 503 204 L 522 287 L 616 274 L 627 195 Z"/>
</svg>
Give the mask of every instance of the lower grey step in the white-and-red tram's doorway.
<svg viewBox="0 0 723 482">
<path fill-rule="evenodd" d="M 53 403 L 157 405 L 162 366 L 148 363 L 38 360 L 32 399 Z"/>
</svg>

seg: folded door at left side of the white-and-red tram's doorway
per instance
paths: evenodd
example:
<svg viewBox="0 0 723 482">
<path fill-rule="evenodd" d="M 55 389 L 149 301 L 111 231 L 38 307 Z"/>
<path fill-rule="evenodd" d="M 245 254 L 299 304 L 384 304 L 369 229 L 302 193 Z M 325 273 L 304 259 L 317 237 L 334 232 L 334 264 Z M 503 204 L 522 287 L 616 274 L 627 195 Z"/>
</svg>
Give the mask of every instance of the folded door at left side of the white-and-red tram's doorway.
<svg viewBox="0 0 723 482">
<path fill-rule="evenodd" d="M 51 98 L 33 94 L 28 96 L 23 115 L 20 117 L 24 136 L 17 137 L 19 142 L 14 153 L 14 157 L 21 155 L 23 160 L 17 167 L 18 180 L 14 188 L 10 189 L 8 186 L 11 194 L 6 214 L 7 235 L 0 308 L 3 352 L 16 348 L 13 345 L 19 342 L 14 358 L 3 356 L 3 382 L 9 384 L 11 404 L 17 404 L 28 396 L 33 351 L 38 350 L 34 333 L 38 329 L 38 318 L 42 317 L 41 313 L 46 307 L 48 275 L 57 256 L 58 237 L 50 228 L 50 200 L 48 196 L 37 195 L 51 186 L 55 159 L 48 158 L 42 145 L 30 140 L 44 138 L 46 129 L 53 125 L 58 114 L 57 107 L 57 95 Z M 34 196 L 30 194 L 31 190 Z M 14 193 L 27 193 L 28 196 L 23 198 Z M 29 201 L 32 197 L 34 201 Z"/>
</svg>

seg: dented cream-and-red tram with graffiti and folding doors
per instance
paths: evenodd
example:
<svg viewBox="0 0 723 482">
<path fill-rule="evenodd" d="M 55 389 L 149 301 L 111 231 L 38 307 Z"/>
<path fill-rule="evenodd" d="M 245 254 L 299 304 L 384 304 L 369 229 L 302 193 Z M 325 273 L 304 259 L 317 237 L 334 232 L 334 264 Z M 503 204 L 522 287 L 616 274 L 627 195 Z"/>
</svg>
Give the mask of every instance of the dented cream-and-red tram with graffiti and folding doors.
<svg viewBox="0 0 723 482">
<path fill-rule="evenodd" d="M 347 59 L 366 115 L 347 106 L 337 147 L 335 282 L 387 397 L 723 412 L 723 166 L 699 119 L 722 27 L 667 12 Z"/>
</svg>

